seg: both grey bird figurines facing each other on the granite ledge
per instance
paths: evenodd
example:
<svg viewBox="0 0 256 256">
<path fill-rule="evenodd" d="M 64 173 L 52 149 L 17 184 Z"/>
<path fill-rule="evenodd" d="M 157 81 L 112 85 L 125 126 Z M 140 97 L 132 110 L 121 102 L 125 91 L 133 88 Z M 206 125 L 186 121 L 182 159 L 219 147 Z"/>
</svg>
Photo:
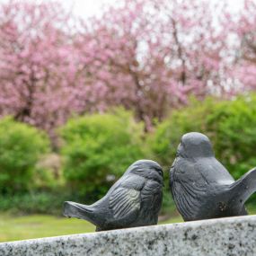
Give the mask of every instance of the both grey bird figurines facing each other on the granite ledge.
<svg viewBox="0 0 256 256">
<path fill-rule="evenodd" d="M 245 201 L 256 190 L 256 168 L 234 181 L 203 134 L 181 138 L 170 170 L 172 198 L 185 221 L 247 215 Z M 93 205 L 64 203 L 64 216 L 96 225 L 96 231 L 156 225 L 163 199 L 163 170 L 139 160 Z"/>
</svg>

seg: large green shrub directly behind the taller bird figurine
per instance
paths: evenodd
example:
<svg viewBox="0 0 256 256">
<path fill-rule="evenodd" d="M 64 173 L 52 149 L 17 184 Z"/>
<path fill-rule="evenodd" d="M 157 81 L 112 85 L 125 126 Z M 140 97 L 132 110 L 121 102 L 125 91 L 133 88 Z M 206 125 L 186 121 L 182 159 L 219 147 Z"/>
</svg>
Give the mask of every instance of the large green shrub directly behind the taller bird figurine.
<svg viewBox="0 0 256 256">
<path fill-rule="evenodd" d="M 246 95 L 233 101 L 207 98 L 192 101 L 159 124 L 151 139 L 154 158 L 166 171 L 172 165 L 181 136 L 202 132 L 213 143 L 216 158 L 235 179 L 256 166 L 256 96 Z M 168 185 L 168 175 L 165 175 Z"/>
</svg>

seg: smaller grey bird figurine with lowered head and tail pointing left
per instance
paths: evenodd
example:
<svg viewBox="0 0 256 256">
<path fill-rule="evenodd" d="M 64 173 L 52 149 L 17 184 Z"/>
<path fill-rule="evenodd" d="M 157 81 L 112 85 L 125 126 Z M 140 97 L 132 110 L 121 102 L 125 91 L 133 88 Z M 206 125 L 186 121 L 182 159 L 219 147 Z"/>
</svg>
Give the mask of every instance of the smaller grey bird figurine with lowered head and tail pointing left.
<svg viewBox="0 0 256 256">
<path fill-rule="evenodd" d="M 156 225 L 163 199 L 163 170 L 151 160 L 128 167 L 107 194 L 93 205 L 64 203 L 63 215 L 87 220 L 96 231 Z"/>
</svg>

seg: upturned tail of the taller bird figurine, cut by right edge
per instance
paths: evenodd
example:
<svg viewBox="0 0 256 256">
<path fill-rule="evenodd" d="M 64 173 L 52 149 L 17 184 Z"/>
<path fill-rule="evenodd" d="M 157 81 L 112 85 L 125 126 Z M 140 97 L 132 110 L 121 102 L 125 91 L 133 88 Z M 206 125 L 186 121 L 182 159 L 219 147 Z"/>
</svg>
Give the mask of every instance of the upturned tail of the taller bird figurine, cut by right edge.
<svg viewBox="0 0 256 256">
<path fill-rule="evenodd" d="M 234 192 L 234 198 L 244 204 L 256 191 L 256 167 L 235 181 L 230 189 Z"/>
</svg>

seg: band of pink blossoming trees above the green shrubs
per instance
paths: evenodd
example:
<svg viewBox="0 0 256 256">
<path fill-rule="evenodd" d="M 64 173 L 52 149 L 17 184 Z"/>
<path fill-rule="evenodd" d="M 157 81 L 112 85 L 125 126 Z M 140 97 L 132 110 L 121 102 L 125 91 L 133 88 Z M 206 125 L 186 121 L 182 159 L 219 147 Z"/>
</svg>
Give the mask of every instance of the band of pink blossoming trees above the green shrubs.
<svg viewBox="0 0 256 256">
<path fill-rule="evenodd" d="M 241 17 L 252 28 L 250 8 Z M 60 2 L 1 4 L 0 115 L 53 134 L 73 114 L 122 105 L 150 129 L 191 94 L 229 95 L 234 62 L 226 59 L 235 50 L 227 35 L 235 30 L 220 10 L 206 0 L 119 0 L 77 21 Z M 247 49 L 248 40 L 240 66 L 248 71 Z"/>
</svg>

